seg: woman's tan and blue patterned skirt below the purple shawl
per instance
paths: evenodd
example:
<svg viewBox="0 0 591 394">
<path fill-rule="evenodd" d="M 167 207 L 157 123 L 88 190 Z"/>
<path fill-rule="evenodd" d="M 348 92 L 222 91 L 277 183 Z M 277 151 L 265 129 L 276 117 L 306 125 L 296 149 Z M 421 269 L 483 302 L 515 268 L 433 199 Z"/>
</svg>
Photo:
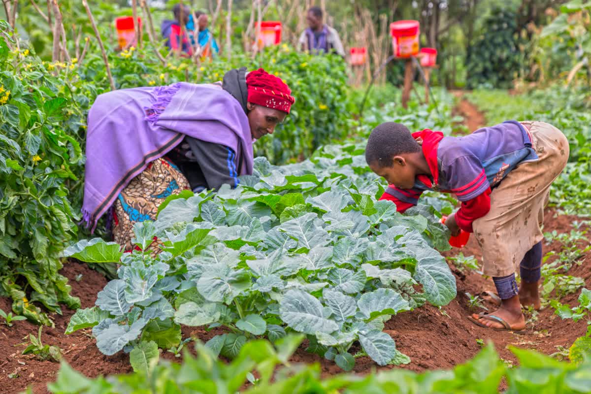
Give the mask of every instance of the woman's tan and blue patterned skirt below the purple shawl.
<svg viewBox="0 0 591 394">
<path fill-rule="evenodd" d="M 167 158 L 160 158 L 135 177 L 119 194 L 113 210 L 113 240 L 124 246 L 126 252 L 138 249 L 132 245 L 134 224 L 156 220 L 158 207 L 171 194 L 191 190 L 189 181 L 178 167 Z M 162 243 L 155 239 L 149 250 L 160 252 Z"/>
</svg>

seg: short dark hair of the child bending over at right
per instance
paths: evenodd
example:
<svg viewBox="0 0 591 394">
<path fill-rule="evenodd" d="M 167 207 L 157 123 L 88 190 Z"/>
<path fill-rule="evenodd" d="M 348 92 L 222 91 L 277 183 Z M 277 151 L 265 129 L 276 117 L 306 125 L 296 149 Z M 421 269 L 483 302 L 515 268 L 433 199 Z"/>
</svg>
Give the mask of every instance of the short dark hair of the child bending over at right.
<svg viewBox="0 0 591 394">
<path fill-rule="evenodd" d="M 365 147 L 365 161 L 367 164 L 377 164 L 380 168 L 392 167 L 394 156 L 420 151 L 421 145 L 414 140 L 407 126 L 385 122 L 373 129 L 369 135 Z"/>
</svg>

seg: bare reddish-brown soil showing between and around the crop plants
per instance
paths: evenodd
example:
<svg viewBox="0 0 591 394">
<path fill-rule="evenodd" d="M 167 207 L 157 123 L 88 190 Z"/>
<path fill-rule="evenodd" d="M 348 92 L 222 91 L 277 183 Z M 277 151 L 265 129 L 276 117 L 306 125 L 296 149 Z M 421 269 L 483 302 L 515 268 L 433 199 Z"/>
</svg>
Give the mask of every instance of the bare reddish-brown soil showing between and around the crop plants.
<svg viewBox="0 0 591 394">
<path fill-rule="evenodd" d="M 462 104 L 462 103 L 467 103 Z M 484 124 L 482 113 L 466 100 L 460 102 L 460 111 L 466 110 L 470 118 L 467 119 L 470 130 Z M 544 220 L 544 231 L 557 230 L 559 233 L 570 232 L 571 223 L 581 220 L 573 216 L 556 216 L 554 210 L 547 210 Z M 588 233 L 591 228 L 586 227 Z M 581 242 L 580 246 L 589 245 Z M 562 246 L 558 242 L 550 245 L 544 243 L 544 253 L 551 250 L 558 251 Z M 444 253 L 447 257 L 462 252 L 465 256 L 473 255 L 480 259 L 480 249 L 475 240 L 462 249 L 454 249 Z M 552 260 L 549 259 L 548 262 Z M 580 264 L 580 265 L 579 265 Z M 411 358 L 411 363 L 401 368 L 421 372 L 424 370 L 452 368 L 456 364 L 471 359 L 480 350 L 477 339 L 492 341 L 501 357 L 513 363 L 517 360 L 507 349 L 508 346 L 518 346 L 527 349 L 535 349 L 545 354 L 557 351 L 557 346 L 570 347 L 573 341 L 586 332 L 586 323 L 571 320 L 560 320 L 553 313 L 552 308 L 543 308 L 536 317 L 528 316 L 527 330 L 524 334 L 513 334 L 507 331 L 493 331 L 478 327 L 467 320 L 472 312 L 467 303 L 466 292 L 477 295 L 485 290 L 494 290 L 492 279 L 485 278 L 476 272 L 459 271 L 450 263 L 450 268 L 457 279 L 457 297 L 449 305 L 439 309 L 426 305 L 418 310 L 405 312 L 398 315 L 386 324 L 386 332 L 397 343 L 398 349 Z M 88 268 L 80 262 L 70 261 L 64 264 L 61 273 L 69 278 L 72 285 L 72 294 L 80 298 L 82 308 L 92 307 L 96 300 L 96 294 L 106 284 L 106 279 L 100 273 Z M 82 275 L 76 281 L 78 275 Z M 587 288 L 591 288 L 591 252 L 582 256 L 578 264 L 573 265 L 570 275 L 580 276 L 584 279 Z M 567 295 L 560 301 L 576 304 L 577 294 Z M 7 298 L 0 298 L 0 308 L 10 310 L 11 302 Z M 495 310 L 491 304 L 485 306 L 489 310 Z M 74 312 L 64 309 L 63 315 L 53 314 L 55 328 L 43 328 L 42 341 L 44 344 L 57 345 L 64 353 L 64 359 L 76 370 L 86 376 L 96 377 L 115 373 L 131 371 L 129 357 L 120 352 L 115 356 L 105 356 L 96 348 L 95 340 L 90 336 L 90 329 L 77 331 L 69 336 L 64 335 L 70 316 Z M 35 394 L 47 393 L 46 385 L 56 379 L 59 363 L 40 361 L 35 356 L 21 355 L 28 341 L 28 334 L 37 333 L 37 326 L 28 321 L 16 321 L 13 327 L 0 325 L 0 393 L 18 393 L 33 386 Z M 217 334 L 215 331 L 206 332 L 194 327 L 183 327 L 183 337 L 196 336 L 202 341 Z M 327 362 L 318 356 L 307 353 L 304 343 L 294 354 L 293 362 L 320 363 L 323 375 L 333 375 L 340 372 L 339 367 L 333 362 Z M 166 359 L 174 360 L 171 353 L 163 354 Z M 178 359 L 177 359 L 178 360 Z M 394 366 L 378 367 L 377 369 L 391 369 Z M 376 369 L 376 364 L 368 357 L 356 360 L 355 372 L 369 373 Z M 9 377 L 8 375 L 12 374 Z"/>
</svg>

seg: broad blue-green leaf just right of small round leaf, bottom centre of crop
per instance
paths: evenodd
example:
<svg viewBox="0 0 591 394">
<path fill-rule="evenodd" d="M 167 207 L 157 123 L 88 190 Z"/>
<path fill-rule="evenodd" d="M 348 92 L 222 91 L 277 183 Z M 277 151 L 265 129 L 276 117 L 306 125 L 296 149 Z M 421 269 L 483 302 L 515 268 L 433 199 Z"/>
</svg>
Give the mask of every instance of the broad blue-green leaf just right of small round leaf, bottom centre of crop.
<svg viewBox="0 0 591 394">
<path fill-rule="evenodd" d="M 300 333 L 332 333 L 339 329 L 335 321 L 324 318 L 320 301 L 306 292 L 288 291 L 281 299 L 279 308 L 281 320 Z"/>
</svg>

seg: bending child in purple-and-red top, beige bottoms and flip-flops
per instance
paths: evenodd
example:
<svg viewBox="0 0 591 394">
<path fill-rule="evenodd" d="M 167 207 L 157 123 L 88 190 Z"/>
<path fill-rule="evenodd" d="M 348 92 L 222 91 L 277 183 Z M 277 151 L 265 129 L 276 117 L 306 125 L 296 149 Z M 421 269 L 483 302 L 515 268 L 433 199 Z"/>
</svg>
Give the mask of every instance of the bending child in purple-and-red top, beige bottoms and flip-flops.
<svg viewBox="0 0 591 394">
<path fill-rule="evenodd" d="M 388 181 L 380 199 L 394 201 L 399 212 L 416 205 L 425 190 L 456 195 L 462 205 L 445 224 L 453 236 L 460 229 L 474 233 L 483 273 L 492 276 L 501 298 L 495 312 L 469 319 L 495 330 L 523 330 L 521 305 L 540 308 L 540 226 L 550 185 L 569 159 L 563 133 L 544 122 L 507 121 L 467 136 L 444 137 L 387 122 L 371 132 L 365 159 Z"/>
</svg>

